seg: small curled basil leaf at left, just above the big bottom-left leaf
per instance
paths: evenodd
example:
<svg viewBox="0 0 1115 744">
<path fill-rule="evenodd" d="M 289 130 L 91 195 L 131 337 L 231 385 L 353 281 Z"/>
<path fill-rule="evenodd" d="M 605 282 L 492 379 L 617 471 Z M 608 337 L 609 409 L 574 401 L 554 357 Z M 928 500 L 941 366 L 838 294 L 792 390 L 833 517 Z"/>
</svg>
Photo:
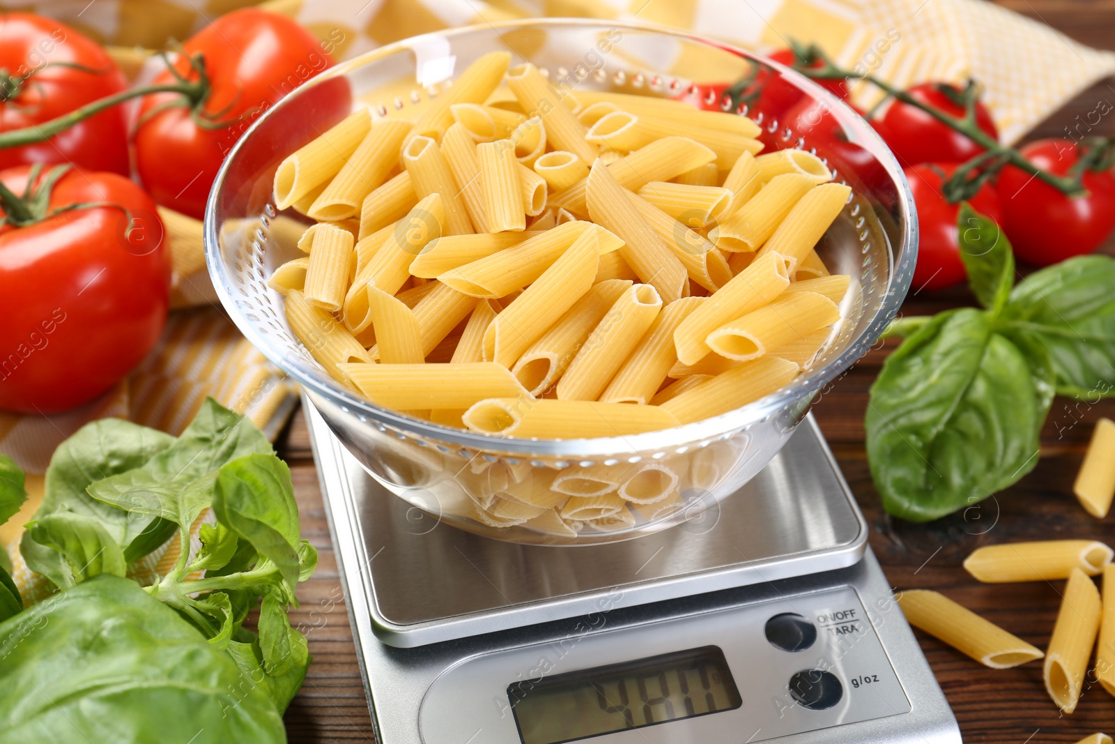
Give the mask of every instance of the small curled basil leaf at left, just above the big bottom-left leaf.
<svg viewBox="0 0 1115 744">
<path fill-rule="evenodd" d="M 28 530 L 32 540 L 57 550 L 66 559 L 69 572 L 64 577 L 65 586 L 80 583 L 101 573 L 123 578 L 127 572 L 124 551 L 91 516 L 72 512 L 47 514 L 41 520 L 28 522 Z"/>
</svg>

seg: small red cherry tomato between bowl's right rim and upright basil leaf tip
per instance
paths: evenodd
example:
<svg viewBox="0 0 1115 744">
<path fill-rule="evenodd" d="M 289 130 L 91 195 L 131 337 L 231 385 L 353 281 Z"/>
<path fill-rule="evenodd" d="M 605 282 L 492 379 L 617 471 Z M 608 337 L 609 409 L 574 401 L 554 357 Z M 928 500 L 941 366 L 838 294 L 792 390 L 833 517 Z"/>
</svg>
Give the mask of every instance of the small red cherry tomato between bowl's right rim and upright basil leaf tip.
<svg viewBox="0 0 1115 744">
<path fill-rule="evenodd" d="M 918 210 L 918 265 L 913 289 L 944 289 L 964 280 L 968 272 L 960 260 L 960 230 L 957 214 L 960 204 L 949 204 L 941 195 L 941 184 L 957 170 L 956 164 L 912 165 L 905 168 L 910 191 Z M 980 214 L 1002 224 L 999 197 L 985 184 L 968 200 Z"/>
</svg>

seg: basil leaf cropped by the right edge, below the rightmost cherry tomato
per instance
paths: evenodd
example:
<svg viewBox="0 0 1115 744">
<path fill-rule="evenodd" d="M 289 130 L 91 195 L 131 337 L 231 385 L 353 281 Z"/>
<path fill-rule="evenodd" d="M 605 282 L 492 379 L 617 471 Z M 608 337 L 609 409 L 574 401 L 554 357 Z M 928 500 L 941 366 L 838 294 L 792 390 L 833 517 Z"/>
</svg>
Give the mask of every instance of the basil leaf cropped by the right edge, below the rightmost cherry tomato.
<svg viewBox="0 0 1115 744">
<path fill-rule="evenodd" d="M 1002 313 L 1002 332 L 1049 352 L 1057 393 L 1115 395 L 1115 259 L 1080 255 L 1019 282 Z"/>
</svg>

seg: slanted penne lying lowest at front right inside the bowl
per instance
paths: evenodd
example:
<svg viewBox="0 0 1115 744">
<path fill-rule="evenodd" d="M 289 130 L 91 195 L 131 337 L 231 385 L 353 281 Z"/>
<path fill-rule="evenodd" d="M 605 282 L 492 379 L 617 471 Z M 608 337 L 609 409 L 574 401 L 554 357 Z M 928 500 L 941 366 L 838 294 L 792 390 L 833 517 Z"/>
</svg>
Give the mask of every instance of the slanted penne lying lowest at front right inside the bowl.
<svg viewBox="0 0 1115 744">
<path fill-rule="evenodd" d="M 682 424 L 711 418 L 774 393 L 794 379 L 797 371 L 793 361 L 760 357 L 667 400 L 662 409 L 677 416 Z"/>
</svg>

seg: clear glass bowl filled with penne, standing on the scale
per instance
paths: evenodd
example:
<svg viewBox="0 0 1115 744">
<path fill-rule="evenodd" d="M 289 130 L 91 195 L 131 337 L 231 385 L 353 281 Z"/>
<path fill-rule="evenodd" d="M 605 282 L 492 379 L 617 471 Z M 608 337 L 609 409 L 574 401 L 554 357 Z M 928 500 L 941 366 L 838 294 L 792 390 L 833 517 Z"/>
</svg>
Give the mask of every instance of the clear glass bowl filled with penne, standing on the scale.
<svg viewBox="0 0 1115 744">
<path fill-rule="evenodd" d="M 322 74 L 206 213 L 225 308 L 369 473 L 539 544 L 663 529 L 754 476 L 893 317 L 915 234 L 898 164 L 820 87 L 573 20 Z"/>
</svg>

